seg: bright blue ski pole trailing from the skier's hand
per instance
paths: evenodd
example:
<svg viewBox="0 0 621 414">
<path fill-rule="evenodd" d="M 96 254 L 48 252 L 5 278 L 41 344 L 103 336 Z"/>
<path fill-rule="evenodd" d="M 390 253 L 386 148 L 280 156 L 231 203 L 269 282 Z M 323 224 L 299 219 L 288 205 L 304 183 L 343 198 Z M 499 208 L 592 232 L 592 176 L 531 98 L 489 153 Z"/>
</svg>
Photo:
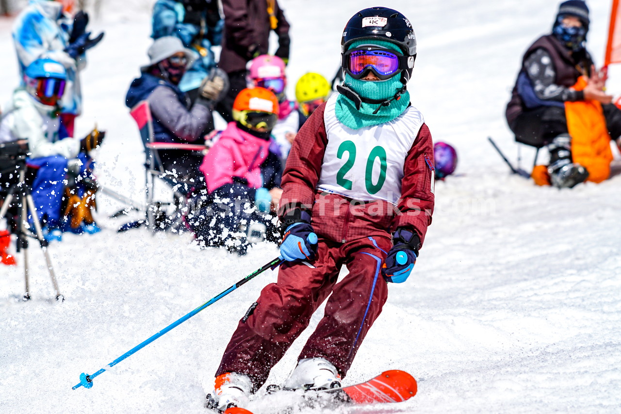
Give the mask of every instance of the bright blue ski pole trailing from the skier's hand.
<svg viewBox="0 0 621 414">
<path fill-rule="evenodd" d="M 229 293 L 233 292 L 233 290 L 237 289 L 238 287 L 240 287 L 244 283 L 248 282 L 248 280 L 250 280 L 250 279 L 260 275 L 261 273 L 265 272 L 265 270 L 268 270 L 268 269 L 272 269 L 273 270 L 273 269 L 275 269 L 282 261 L 283 261 L 283 259 L 281 259 L 280 257 L 276 257 L 276 259 L 272 260 L 270 263 L 263 265 L 263 267 L 261 267 L 261 269 L 255 270 L 254 272 L 252 272 L 247 277 L 245 277 L 242 280 L 240 280 L 239 282 L 235 283 L 235 285 L 233 285 L 232 287 L 228 288 L 227 290 L 225 290 L 224 292 L 220 293 L 219 295 L 217 295 L 217 296 L 211 298 L 210 300 L 206 301 L 201 306 L 199 306 L 195 310 L 193 310 L 190 313 L 188 313 L 188 315 L 183 316 L 183 318 L 181 318 L 181 319 L 171 323 L 170 325 L 166 326 L 166 328 L 162 329 L 160 332 L 158 332 L 155 335 L 153 335 L 151 338 L 147 339 L 146 341 L 143 341 L 142 343 L 140 343 L 137 346 L 133 347 L 129 351 L 125 352 L 125 354 L 122 354 L 120 357 L 118 357 L 114 361 L 112 361 L 109 364 L 107 364 L 107 367 L 111 367 L 111 368 L 114 367 L 116 364 L 118 364 L 119 362 L 123 361 L 125 358 L 129 357 L 130 355 L 134 354 L 135 352 L 139 351 L 143 347 L 145 347 L 148 344 L 150 344 L 153 341 L 155 341 L 155 339 L 160 338 L 160 336 L 162 336 L 163 334 L 167 333 L 168 331 L 170 331 L 171 329 L 175 328 L 176 326 L 179 326 L 180 324 L 184 323 L 189 318 L 191 318 L 192 316 L 196 315 L 197 313 L 202 311 L 207 306 L 211 305 L 212 303 L 222 299 L 223 297 L 225 297 Z M 104 372 L 106 372 L 105 368 L 102 368 L 102 369 L 98 370 L 93 375 L 84 374 L 84 372 L 83 372 L 82 374 L 79 375 L 79 384 L 76 384 L 71 389 L 75 390 L 75 389 L 78 389 L 79 387 L 84 387 L 84 388 L 91 388 L 91 387 L 93 387 L 93 379 L 94 379 L 94 377 L 96 377 L 97 375 L 102 374 Z"/>
</svg>

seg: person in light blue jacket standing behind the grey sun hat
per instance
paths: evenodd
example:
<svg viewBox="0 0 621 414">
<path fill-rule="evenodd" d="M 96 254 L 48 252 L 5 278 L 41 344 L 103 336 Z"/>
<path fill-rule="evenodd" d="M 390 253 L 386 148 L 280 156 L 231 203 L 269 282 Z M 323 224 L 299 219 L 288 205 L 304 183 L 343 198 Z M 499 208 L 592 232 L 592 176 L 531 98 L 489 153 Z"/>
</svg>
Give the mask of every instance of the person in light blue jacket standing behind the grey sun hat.
<svg viewBox="0 0 621 414">
<path fill-rule="evenodd" d="M 192 102 L 198 96 L 202 80 L 215 67 L 212 45 L 220 45 L 224 20 L 217 0 L 157 0 L 153 6 L 153 39 L 176 36 L 198 58 L 179 82 L 179 89 Z"/>
</svg>

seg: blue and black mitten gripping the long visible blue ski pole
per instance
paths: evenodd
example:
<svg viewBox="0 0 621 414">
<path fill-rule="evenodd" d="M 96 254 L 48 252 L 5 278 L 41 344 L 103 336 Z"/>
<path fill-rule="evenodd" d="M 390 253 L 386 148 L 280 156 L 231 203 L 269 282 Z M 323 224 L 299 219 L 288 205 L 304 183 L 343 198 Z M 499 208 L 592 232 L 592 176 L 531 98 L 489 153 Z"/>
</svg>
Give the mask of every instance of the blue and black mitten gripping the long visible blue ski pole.
<svg viewBox="0 0 621 414">
<path fill-rule="evenodd" d="M 311 215 L 295 208 L 283 217 L 283 228 L 280 259 L 287 262 L 314 260 L 317 253 L 317 234 L 311 226 Z"/>
</svg>

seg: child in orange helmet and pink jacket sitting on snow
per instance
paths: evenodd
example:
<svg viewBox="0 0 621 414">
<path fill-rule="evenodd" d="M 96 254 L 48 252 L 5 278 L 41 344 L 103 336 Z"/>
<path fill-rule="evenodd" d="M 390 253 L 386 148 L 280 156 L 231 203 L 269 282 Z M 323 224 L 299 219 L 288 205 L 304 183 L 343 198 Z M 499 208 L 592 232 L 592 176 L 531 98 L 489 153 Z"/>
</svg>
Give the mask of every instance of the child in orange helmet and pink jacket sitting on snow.
<svg viewBox="0 0 621 414">
<path fill-rule="evenodd" d="M 270 214 L 283 192 L 280 163 L 270 152 L 278 101 L 264 88 L 245 89 L 235 98 L 233 116 L 235 122 L 220 134 L 201 165 L 209 197 L 189 214 L 188 222 L 202 244 L 224 245 L 243 255 L 249 242 L 279 241 Z"/>
</svg>

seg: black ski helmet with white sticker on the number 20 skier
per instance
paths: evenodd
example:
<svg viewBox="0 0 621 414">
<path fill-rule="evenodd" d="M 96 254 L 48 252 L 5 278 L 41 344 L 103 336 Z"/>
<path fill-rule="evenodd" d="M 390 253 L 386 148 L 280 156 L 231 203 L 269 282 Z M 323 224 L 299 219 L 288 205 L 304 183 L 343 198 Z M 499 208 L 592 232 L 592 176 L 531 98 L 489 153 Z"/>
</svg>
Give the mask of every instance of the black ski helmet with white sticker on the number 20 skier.
<svg viewBox="0 0 621 414">
<path fill-rule="evenodd" d="M 409 58 L 408 67 L 401 72 L 403 74 L 401 79 L 404 83 L 410 80 L 416 58 L 416 36 L 406 16 L 388 7 L 369 7 L 361 10 L 349 19 L 343 29 L 341 53 L 347 52 L 356 40 L 384 40 L 397 45 Z"/>
</svg>

